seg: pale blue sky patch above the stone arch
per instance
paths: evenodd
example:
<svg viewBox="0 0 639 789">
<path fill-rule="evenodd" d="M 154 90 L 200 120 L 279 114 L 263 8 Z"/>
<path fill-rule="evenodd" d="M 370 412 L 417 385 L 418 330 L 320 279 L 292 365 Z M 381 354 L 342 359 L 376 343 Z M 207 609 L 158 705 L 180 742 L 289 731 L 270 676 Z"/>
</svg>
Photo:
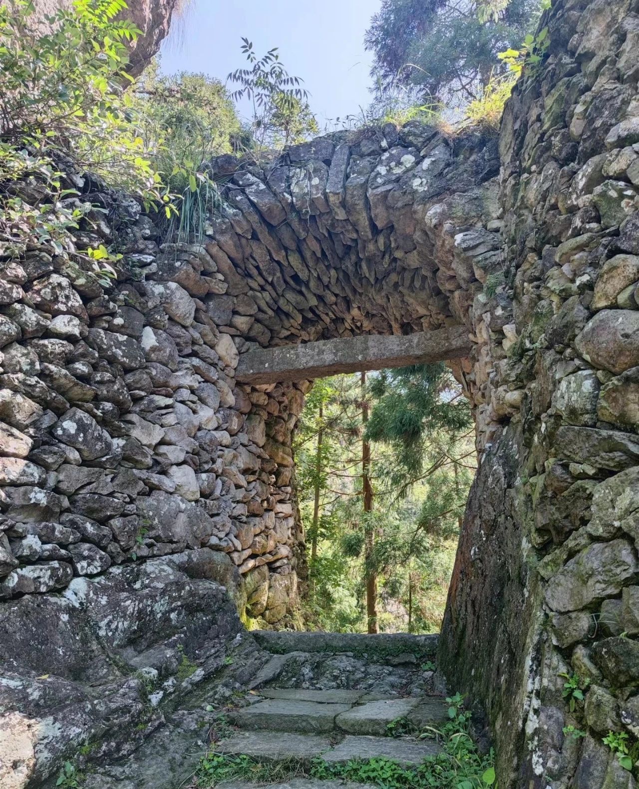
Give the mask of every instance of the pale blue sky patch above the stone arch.
<svg viewBox="0 0 639 789">
<path fill-rule="evenodd" d="M 294 77 L 305 80 L 321 129 L 368 107 L 372 54 L 364 32 L 380 0 L 192 0 L 163 43 L 163 73 L 204 72 L 226 80 L 245 67 L 241 36 L 259 57 L 271 47 Z M 247 114 L 241 107 L 241 114 Z"/>
</svg>

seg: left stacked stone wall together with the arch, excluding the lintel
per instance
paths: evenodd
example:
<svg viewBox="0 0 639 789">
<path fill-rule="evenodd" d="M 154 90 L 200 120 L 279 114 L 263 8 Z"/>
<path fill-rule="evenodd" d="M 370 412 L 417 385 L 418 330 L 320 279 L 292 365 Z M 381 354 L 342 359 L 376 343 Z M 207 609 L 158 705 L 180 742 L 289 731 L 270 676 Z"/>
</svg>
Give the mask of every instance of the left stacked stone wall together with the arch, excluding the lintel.
<svg viewBox="0 0 639 789">
<path fill-rule="evenodd" d="M 114 280 L 82 252 L 6 239 L 0 595 L 207 548 L 245 576 L 249 615 L 282 621 L 303 570 L 291 439 L 310 384 L 236 385 L 239 354 L 470 326 L 499 268 L 496 163 L 495 140 L 419 124 L 263 169 L 220 157 L 198 245 L 163 243 L 135 200 L 70 174 L 101 209 L 78 249 L 123 257 Z M 479 391 L 469 364 L 456 372 Z"/>
</svg>

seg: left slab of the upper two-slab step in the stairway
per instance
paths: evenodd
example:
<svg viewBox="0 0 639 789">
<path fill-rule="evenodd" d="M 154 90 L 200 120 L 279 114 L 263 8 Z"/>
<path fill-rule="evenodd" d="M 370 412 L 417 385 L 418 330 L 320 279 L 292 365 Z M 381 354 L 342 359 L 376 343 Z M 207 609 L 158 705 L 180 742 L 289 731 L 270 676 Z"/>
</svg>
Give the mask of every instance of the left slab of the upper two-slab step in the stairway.
<svg viewBox="0 0 639 789">
<path fill-rule="evenodd" d="M 230 712 L 229 717 L 243 729 L 322 734 L 334 731 L 335 718 L 348 709 L 349 704 L 320 704 L 317 701 L 274 698 Z"/>
</svg>

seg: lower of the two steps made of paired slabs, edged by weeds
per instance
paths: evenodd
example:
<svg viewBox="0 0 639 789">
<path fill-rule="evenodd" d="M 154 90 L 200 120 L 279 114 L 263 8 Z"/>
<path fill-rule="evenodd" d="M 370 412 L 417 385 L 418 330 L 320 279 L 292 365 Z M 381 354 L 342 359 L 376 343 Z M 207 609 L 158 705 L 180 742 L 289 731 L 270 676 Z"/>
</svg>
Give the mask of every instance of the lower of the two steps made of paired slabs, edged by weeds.
<svg viewBox="0 0 639 789">
<path fill-rule="evenodd" d="M 346 735 L 337 744 L 326 736 L 300 735 L 282 731 L 237 731 L 230 739 L 217 743 L 219 753 L 244 753 L 258 761 L 300 761 L 309 768 L 312 759 L 346 764 L 351 759 L 383 756 L 402 765 L 415 765 L 439 753 L 434 740 L 410 737 L 356 737 Z"/>
</svg>

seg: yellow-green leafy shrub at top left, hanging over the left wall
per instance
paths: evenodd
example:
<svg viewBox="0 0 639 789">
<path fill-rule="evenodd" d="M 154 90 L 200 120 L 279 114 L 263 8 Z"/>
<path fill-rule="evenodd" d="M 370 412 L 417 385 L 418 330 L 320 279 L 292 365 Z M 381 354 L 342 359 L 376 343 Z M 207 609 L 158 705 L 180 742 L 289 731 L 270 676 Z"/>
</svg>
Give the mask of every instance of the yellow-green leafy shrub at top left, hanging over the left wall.
<svg viewBox="0 0 639 789">
<path fill-rule="evenodd" d="M 32 2 L 0 5 L 0 233 L 16 252 L 25 241 L 73 251 L 73 230 L 101 210 L 65 188 L 68 159 L 147 208 L 172 211 L 125 92 L 127 47 L 139 33 L 115 18 L 125 9 L 123 0 L 75 0 L 47 17 L 43 33 Z M 114 278 L 115 260 L 103 248 L 79 257 L 101 281 Z"/>
</svg>

